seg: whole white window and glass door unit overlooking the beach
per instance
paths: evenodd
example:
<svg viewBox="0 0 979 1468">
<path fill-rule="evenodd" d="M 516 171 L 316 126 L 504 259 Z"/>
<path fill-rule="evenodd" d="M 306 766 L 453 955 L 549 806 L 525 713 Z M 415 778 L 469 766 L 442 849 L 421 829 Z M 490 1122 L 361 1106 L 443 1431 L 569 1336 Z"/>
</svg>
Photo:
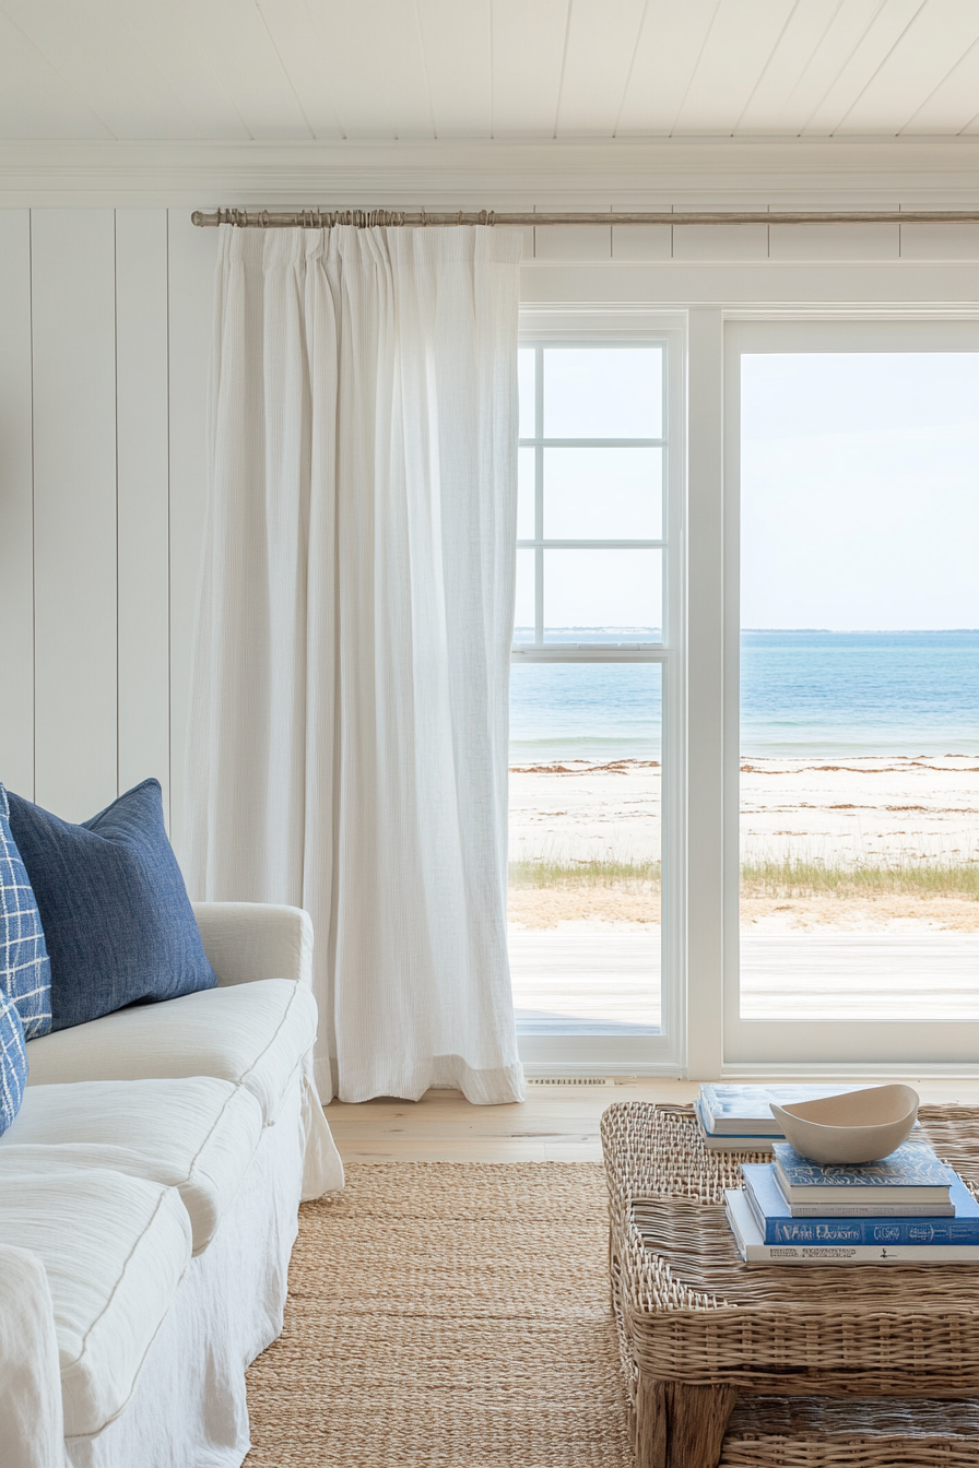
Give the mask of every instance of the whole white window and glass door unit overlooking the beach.
<svg viewBox="0 0 979 1468">
<path fill-rule="evenodd" d="M 979 1053 L 979 321 L 531 305 L 509 942 L 546 1073 Z"/>
</svg>

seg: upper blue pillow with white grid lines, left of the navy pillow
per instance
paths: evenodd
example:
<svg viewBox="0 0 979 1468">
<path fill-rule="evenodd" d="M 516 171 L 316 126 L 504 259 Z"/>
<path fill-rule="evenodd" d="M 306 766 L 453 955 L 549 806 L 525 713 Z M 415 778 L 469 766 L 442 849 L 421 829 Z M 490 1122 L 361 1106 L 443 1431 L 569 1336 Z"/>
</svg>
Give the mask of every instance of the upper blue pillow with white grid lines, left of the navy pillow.
<svg viewBox="0 0 979 1468">
<path fill-rule="evenodd" d="M 51 1028 L 51 964 L 41 915 L 18 844 L 10 831 L 10 803 L 0 785 L 0 994 L 23 1022 L 23 1039 Z"/>
</svg>

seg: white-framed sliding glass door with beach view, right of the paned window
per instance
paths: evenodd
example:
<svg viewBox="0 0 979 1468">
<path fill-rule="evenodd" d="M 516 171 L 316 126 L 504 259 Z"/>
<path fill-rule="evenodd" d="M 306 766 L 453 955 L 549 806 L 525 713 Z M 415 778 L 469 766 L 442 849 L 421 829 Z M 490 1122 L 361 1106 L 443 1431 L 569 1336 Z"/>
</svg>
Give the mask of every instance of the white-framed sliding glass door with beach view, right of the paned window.
<svg viewBox="0 0 979 1468">
<path fill-rule="evenodd" d="M 725 352 L 725 1060 L 973 1063 L 979 327 Z"/>
</svg>

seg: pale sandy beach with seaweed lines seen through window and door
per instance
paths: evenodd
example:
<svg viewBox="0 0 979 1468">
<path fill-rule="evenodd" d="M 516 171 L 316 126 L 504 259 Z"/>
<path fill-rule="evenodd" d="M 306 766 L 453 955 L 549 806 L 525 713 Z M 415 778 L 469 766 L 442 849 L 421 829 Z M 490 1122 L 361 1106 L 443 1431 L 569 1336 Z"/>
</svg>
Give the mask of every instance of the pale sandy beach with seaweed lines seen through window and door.
<svg viewBox="0 0 979 1468">
<path fill-rule="evenodd" d="M 511 862 L 547 863 L 547 885 L 511 888 L 517 931 L 641 928 L 659 922 L 658 884 L 589 881 L 575 868 L 659 860 L 660 769 L 646 760 L 568 760 L 511 769 Z M 741 765 L 743 928 L 790 932 L 979 932 L 979 901 L 941 878 L 979 865 L 979 760 L 746 759 Z M 863 887 L 779 888 L 778 863 L 860 869 Z M 561 876 L 561 869 L 565 876 Z M 867 873 L 928 869 L 914 890 Z M 762 873 L 768 872 L 763 878 Z"/>
</svg>

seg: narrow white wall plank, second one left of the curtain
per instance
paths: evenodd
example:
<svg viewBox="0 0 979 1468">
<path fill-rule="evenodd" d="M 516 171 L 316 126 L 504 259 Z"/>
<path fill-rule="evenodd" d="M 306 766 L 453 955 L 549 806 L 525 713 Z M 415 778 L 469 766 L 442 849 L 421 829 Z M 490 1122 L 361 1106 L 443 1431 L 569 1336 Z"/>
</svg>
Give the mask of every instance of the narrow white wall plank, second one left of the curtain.
<svg viewBox="0 0 979 1468">
<path fill-rule="evenodd" d="M 119 790 L 170 799 L 167 220 L 116 211 Z"/>
</svg>

